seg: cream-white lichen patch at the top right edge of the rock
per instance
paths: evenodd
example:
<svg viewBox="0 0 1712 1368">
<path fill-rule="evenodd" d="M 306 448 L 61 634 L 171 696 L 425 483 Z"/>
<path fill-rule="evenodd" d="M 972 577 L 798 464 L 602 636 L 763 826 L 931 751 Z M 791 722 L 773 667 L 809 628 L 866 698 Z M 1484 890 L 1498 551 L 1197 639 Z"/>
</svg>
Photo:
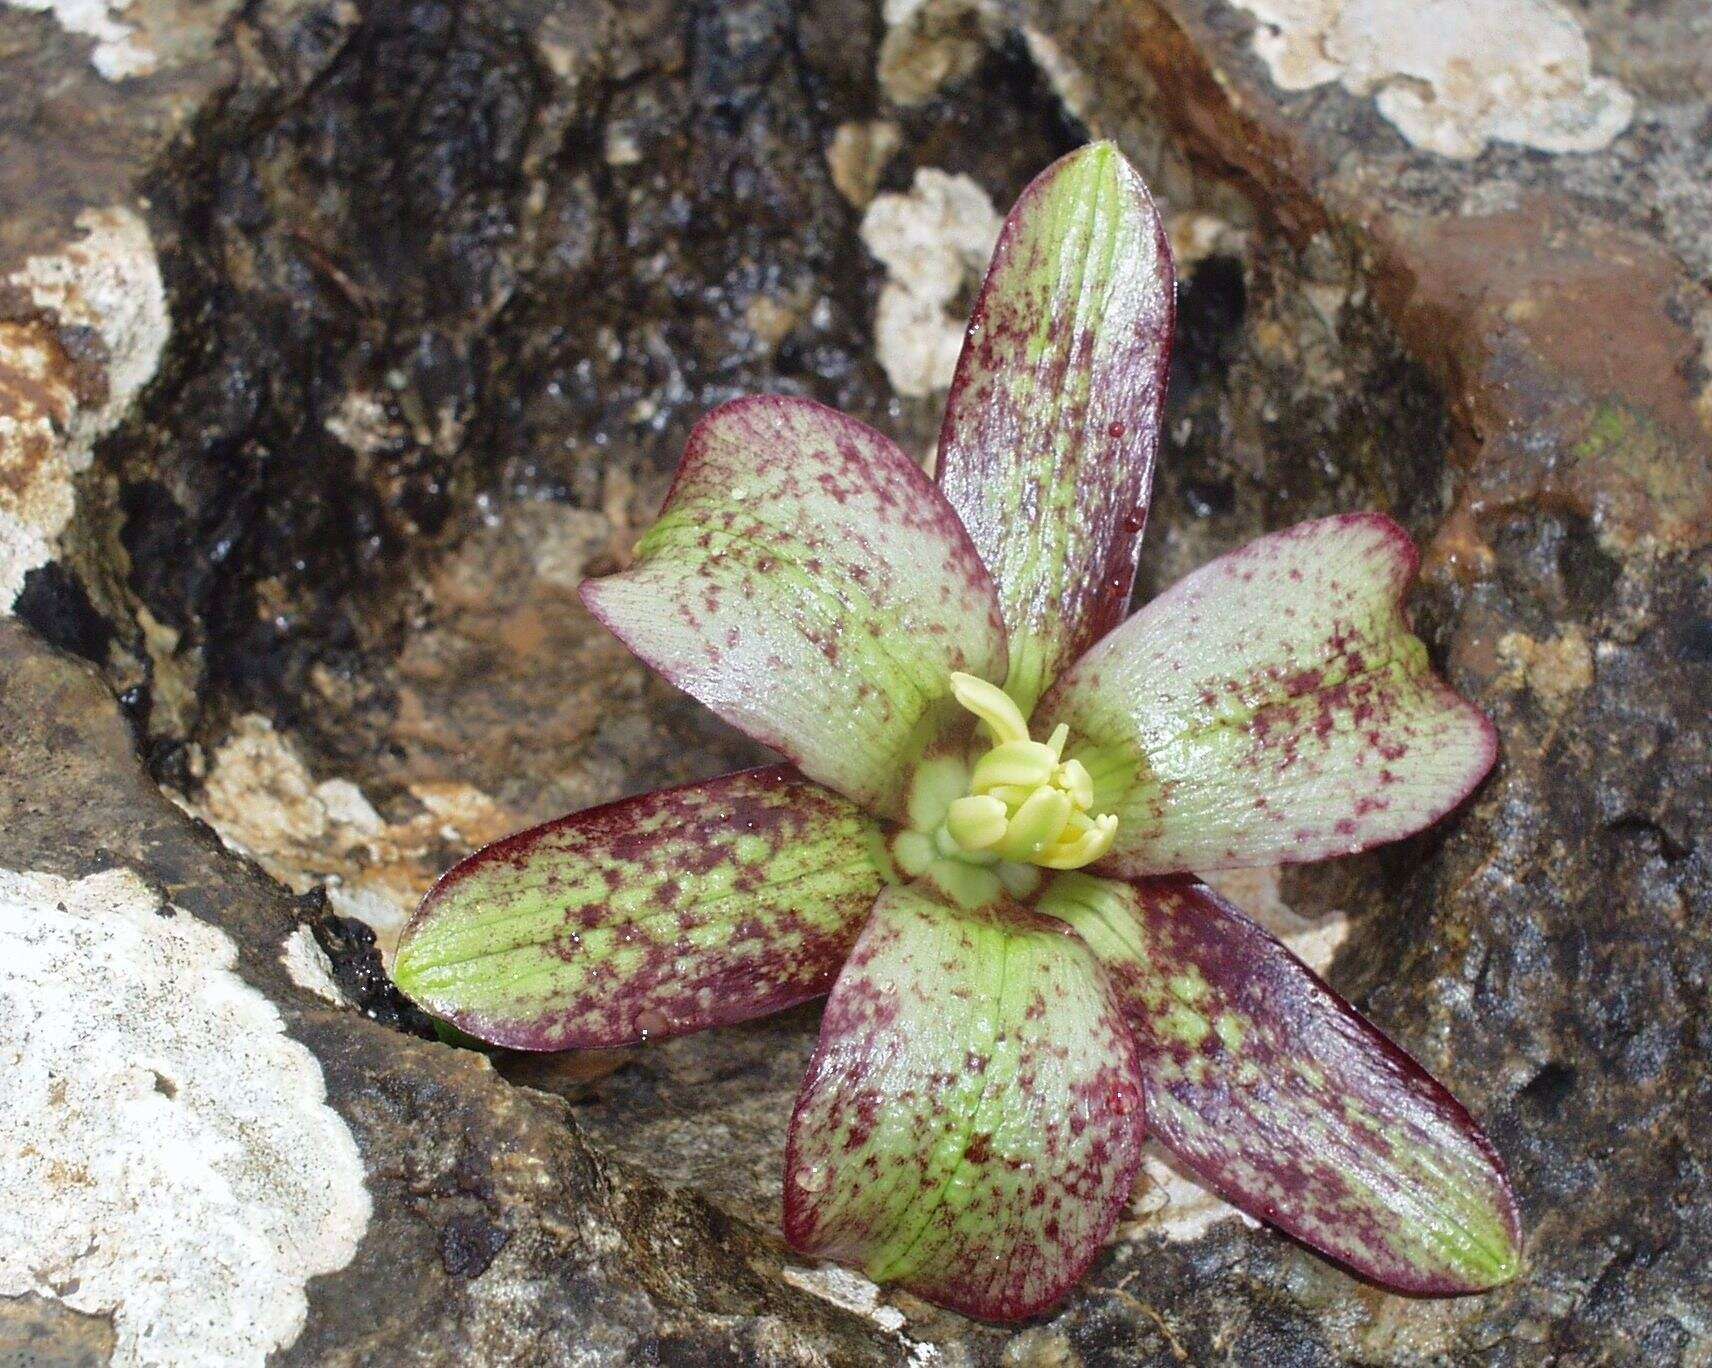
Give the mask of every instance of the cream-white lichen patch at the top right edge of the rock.
<svg viewBox="0 0 1712 1368">
<path fill-rule="evenodd" d="M 1375 98 L 1416 147 L 1472 158 L 1488 142 L 1594 152 L 1635 101 L 1594 74 L 1560 0 L 1234 0 L 1286 91 L 1340 82 Z"/>
</svg>

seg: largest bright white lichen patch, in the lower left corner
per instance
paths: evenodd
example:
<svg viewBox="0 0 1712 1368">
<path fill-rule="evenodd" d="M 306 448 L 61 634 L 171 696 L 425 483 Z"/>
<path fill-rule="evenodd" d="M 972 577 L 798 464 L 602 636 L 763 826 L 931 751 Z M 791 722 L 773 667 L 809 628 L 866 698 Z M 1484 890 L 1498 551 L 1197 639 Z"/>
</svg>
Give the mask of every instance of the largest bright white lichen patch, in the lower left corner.
<svg viewBox="0 0 1712 1368">
<path fill-rule="evenodd" d="M 111 1317 L 116 1365 L 260 1365 L 368 1226 L 320 1065 L 235 964 L 128 870 L 0 871 L 0 1296 Z"/>
</svg>

